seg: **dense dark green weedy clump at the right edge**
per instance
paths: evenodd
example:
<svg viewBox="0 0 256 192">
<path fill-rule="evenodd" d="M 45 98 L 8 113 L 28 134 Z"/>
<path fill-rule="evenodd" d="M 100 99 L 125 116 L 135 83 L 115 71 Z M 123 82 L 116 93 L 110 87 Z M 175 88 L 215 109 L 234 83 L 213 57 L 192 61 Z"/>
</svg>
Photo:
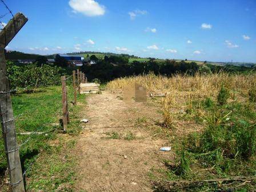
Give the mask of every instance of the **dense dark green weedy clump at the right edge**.
<svg viewBox="0 0 256 192">
<path fill-rule="evenodd" d="M 202 134 L 189 135 L 188 148 L 197 153 L 221 150 L 229 158 L 247 159 L 255 155 L 256 125 L 243 119 L 226 120 L 223 119 L 224 114 L 218 113 L 212 114 L 213 118 L 209 118 L 209 125 Z"/>
</svg>

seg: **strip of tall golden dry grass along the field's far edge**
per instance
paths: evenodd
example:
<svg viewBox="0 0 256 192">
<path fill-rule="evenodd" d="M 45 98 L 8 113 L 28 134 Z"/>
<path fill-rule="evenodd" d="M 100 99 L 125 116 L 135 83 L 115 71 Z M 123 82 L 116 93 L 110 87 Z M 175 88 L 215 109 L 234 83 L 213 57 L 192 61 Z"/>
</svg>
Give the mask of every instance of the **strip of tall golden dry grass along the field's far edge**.
<svg viewBox="0 0 256 192">
<path fill-rule="evenodd" d="M 123 87 L 140 83 L 149 93 L 193 94 L 195 97 L 209 97 L 218 94 L 222 84 L 230 90 L 247 95 L 251 87 L 256 86 L 256 74 L 195 74 L 194 76 L 177 74 L 171 78 L 162 75 L 139 75 L 118 78 L 107 83 L 107 88 L 114 93 L 122 93 Z"/>
</svg>

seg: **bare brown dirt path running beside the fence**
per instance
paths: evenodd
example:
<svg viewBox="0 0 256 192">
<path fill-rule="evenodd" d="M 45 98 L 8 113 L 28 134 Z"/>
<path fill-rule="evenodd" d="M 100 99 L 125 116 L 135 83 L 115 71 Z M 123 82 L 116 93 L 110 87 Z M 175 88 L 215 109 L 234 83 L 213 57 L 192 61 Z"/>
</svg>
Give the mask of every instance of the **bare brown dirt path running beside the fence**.
<svg viewBox="0 0 256 192">
<path fill-rule="evenodd" d="M 76 191 L 153 191 L 150 169 L 164 169 L 159 159 L 172 154 L 159 152 L 166 141 L 153 140 L 141 125 L 159 114 L 142 103 L 127 105 L 107 91 L 90 95 L 87 102 L 83 115 L 89 123 L 76 150 Z"/>
</svg>

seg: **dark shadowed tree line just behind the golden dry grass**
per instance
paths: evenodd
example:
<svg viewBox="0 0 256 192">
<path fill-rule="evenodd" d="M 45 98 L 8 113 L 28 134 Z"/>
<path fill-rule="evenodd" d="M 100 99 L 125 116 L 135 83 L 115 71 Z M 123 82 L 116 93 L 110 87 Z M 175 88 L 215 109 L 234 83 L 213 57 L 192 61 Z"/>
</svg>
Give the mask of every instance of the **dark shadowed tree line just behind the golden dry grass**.
<svg viewBox="0 0 256 192">
<path fill-rule="evenodd" d="M 113 65 L 118 63 L 118 65 Z M 147 62 L 133 61 L 128 64 L 128 58 L 105 57 L 97 65 L 83 65 L 81 67 L 89 81 L 100 79 L 102 82 L 111 81 L 115 78 L 126 77 L 131 75 L 140 75 L 154 73 L 171 76 L 175 73 L 188 73 L 193 75 L 199 70 L 199 65 L 195 62 L 176 62 L 166 59 L 165 62 L 158 62 L 150 59 Z"/>
</svg>

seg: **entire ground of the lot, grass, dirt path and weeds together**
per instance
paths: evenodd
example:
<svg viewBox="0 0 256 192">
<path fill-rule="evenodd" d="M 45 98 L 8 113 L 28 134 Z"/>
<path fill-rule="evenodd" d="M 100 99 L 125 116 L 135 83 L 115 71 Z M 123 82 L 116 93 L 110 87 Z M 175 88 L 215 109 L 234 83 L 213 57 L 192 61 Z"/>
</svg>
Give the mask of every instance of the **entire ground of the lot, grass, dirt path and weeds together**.
<svg viewBox="0 0 256 192">
<path fill-rule="evenodd" d="M 23 113 L 17 132 L 49 131 L 18 136 L 20 144 L 32 136 L 20 150 L 27 190 L 254 191 L 255 79 L 255 73 L 115 79 L 101 94 L 70 104 L 67 134 L 53 124 L 61 118 L 61 87 L 17 93 L 14 113 Z M 146 103 L 123 100 L 123 88 L 135 82 L 153 95 Z M 68 93 L 72 101 L 71 87 Z M 7 191 L 7 180 L 1 182 Z"/>
</svg>

